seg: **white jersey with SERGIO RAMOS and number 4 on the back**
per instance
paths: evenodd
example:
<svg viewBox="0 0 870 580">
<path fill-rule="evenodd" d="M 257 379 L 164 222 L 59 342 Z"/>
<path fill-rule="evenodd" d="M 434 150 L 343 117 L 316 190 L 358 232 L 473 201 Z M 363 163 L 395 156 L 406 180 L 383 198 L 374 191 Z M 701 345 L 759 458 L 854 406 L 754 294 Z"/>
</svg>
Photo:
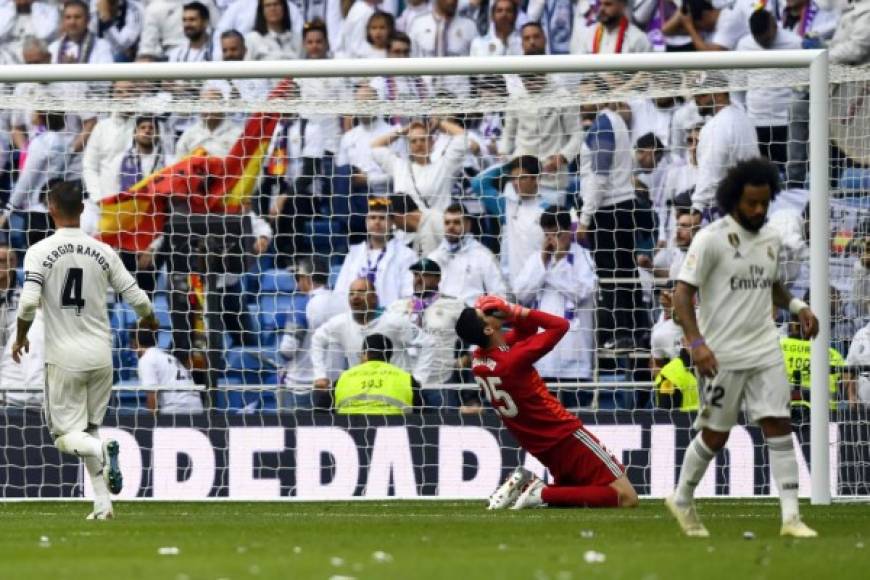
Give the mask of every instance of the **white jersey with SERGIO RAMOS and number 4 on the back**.
<svg viewBox="0 0 870 580">
<path fill-rule="evenodd" d="M 112 335 L 106 311 L 109 286 L 140 316 L 151 312 L 148 296 L 118 254 L 78 228 L 61 228 L 24 256 L 19 312 L 32 320 L 41 304 L 45 362 L 70 371 L 112 364 Z"/>
</svg>

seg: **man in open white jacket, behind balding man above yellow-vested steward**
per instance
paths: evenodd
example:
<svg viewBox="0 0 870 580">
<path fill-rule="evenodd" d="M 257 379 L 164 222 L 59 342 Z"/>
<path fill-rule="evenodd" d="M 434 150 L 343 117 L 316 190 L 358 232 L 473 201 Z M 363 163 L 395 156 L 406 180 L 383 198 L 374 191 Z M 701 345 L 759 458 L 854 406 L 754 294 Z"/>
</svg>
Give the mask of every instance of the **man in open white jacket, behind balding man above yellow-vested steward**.
<svg viewBox="0 0 870 580">
<path fill-rule="evenodd" d="M 408 267 L 417 261 L 417 255 L 391 236 L 391 212 L 389 200 L 373 198 L 369 201 L 367 239 L 350 247 L 335 281 L 337 296 L 347 293 L 352 282 L 359 278 L 372 283 L 378 304 L 384 308 L 413 292 L 413 277 Z"/>
</svg>

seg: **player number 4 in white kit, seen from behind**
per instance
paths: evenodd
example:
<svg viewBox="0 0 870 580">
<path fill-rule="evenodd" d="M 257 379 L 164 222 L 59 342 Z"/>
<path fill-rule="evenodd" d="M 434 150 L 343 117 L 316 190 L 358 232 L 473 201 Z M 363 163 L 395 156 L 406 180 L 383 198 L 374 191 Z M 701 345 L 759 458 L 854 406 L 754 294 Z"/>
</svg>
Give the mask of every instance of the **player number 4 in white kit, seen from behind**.
<svg viewBox="0 0 870 580">
<path fill-rule="evenodd" d="M 27 331 L 36 309 L 45 321 L 45 420 L 60 451 L 81 457 L 94 487 L 88 519 L 114 517 L 109 493 L 121 491 L 118 442 L 101 441 L 98 428 L 112 390 L 112 335 L 106 311 L 111 286 L 142 318 L 157 327 L 148 296 L 106 244 L 79 228 L 84 210 L 79 188 L 59 183 L 48 193 L 57 231 L 24 256 L 24 288 L 12 356 L 29 351 Z"/>
</svg>

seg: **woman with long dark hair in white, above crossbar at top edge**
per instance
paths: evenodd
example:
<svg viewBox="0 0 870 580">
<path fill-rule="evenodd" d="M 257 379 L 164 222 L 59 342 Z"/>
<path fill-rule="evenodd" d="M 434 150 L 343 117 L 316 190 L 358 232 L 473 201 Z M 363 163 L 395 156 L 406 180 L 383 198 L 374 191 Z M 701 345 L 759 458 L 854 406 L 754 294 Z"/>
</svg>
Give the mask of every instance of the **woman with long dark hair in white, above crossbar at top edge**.
<svg viewBox="0 0 870 580">
<path fill-rule="evenodd" d="M 287 0 L 258 0 L 254 29 L 245 35 L 251 60 L 292 60 L 302 55 L 302 37 L 290 20 Z"/>
</svg>

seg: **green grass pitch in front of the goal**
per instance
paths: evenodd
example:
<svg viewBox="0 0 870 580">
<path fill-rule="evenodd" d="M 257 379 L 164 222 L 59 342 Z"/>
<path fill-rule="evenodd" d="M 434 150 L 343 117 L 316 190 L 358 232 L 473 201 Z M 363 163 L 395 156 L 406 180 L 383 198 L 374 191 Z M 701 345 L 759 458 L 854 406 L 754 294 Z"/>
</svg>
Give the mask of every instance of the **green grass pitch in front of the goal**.
<svg viewBox="0 0 870 580">
<path fill-rule="evenodd" d="M 483 502 L 119 502 L 110 522 L 85 521 L 89 508 L 0 504 L 0 578 L 870 578 L 866 503 L 803 504 L 817 540 L 780 538 L 775 501 L 700 502 L 709 540 L 682 537 L 659 501 L 496 513 Z"/>
</svg>

